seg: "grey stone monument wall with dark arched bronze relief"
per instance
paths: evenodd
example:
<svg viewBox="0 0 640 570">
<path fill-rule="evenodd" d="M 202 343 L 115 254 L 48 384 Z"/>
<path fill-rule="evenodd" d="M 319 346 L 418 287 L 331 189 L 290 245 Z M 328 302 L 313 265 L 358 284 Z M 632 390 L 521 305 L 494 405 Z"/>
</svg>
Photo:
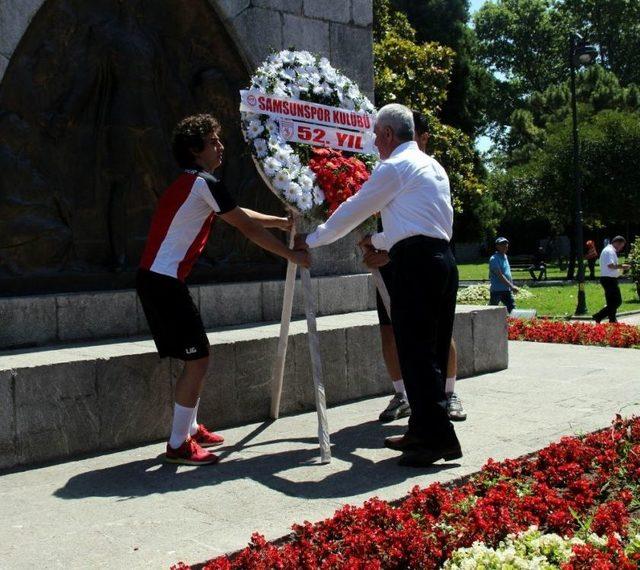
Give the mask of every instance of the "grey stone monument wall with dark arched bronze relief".
<svg viewBox="0 0 640 570">
<path fill-rule="evenodd" d="M 171 130 L 221 120 L 238 203 L 276 213 L 239 127 L 239 90 L 273 49 L 331 59 L 372 90 L 371 1 L 46 0 L 0 6 L 0 285 L 4 294 L 130 287 L 158 196 L 176 175 Z M 357 49 L 361 54 L 351 57 Z M 316 271 L 361 271 L 352 243 Z M 225 224 L 196 281 L 279 277 Z"/>
</svg>

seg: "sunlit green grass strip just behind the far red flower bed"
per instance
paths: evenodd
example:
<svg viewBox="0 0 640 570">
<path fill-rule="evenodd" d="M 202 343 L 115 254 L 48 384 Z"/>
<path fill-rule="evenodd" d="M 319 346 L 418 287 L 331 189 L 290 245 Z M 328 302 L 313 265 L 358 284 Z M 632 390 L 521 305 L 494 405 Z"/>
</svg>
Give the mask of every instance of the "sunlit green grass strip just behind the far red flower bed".
<svg viewBox="0 0 640 570">
<path fill-rule="evenodd" d="M 518 299 L 518 309 L 535 309 L 538 316 L 571 316 L 576 308 L 578 286 L 559 285 L 554 287 L 531 287 L 530 299 Z M 618 312 L 640 310 L 640 301 L 633 283 L 621 283 L 622 306 Z M 588 314 L 604 307 L 604 291 L 599 283 L 587 283 L 585 286 Z"/>
</svg>

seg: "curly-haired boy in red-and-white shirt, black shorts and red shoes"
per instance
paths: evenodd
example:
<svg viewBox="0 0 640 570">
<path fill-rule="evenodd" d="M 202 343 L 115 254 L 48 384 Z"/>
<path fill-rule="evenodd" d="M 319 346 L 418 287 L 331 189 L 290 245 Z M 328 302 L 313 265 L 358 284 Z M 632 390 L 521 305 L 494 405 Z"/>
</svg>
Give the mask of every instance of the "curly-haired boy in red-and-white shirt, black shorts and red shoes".
<svg viewBox="0 0 640 570">
<path fill-rule="evenodd" d="M 211 115 L 186 117 L 173 133 L 173 154 L 182 174 L 165 190 L 151 221 L 136 288 L 161 358 L 184 361 L 176 383 L 173 426 L 165 459 L 183 465 L 216 463 L 205 448 L 224 438 L 197 422 L 209 365 L 209 341 L 184 283 L 200 257 L 216 216 L 260 247 L 309 266 L 307 252 L 288 249 L 265 228 L 287 230 L 287 218 L 239 208 L 213 171 L 222 163 L 220 125 Z"/>
</svg>

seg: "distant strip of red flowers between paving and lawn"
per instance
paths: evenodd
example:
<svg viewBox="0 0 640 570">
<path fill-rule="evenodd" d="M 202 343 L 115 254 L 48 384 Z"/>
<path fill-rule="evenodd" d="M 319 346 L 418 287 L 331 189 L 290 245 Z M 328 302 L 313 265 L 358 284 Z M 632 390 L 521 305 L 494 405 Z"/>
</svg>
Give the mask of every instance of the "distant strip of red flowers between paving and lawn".
<svg viewBox="0 0 640 570">
<path fill-rule="evenodd" d="M 509 318 L 509 340 L 630 348 L 640 346 L 640 328 L 625 323 Z"/>
</svg>

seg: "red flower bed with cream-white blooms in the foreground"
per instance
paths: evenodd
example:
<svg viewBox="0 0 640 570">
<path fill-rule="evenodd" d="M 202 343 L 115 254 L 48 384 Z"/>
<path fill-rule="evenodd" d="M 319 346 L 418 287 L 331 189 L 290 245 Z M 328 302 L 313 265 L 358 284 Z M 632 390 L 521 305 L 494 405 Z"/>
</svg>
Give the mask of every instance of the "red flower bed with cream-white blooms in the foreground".
<svg viewBox="0 0 640 570">
<path fill-rule="evenodd" d="M 512 568 L 632 570 L 639 507 L 640 418 L 618 417 L 534 456 L 489 460 L 464 484 L 415 487 L 397 504 L 373 498 L 295 525 L 284 544 L 254 534 L 204 568 L 476 568 L 474 560 L 517 554 L 527 565 Z"/>
</svg>

